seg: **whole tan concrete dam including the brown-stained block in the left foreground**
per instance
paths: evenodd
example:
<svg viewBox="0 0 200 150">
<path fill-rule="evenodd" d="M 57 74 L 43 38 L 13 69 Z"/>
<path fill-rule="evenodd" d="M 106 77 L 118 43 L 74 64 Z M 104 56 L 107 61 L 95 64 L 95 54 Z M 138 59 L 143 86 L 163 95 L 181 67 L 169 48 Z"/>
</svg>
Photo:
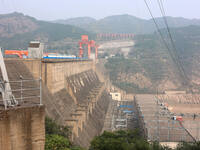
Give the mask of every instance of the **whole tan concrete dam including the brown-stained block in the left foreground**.
<svg viewBox="0 0 200 150">
<path fill-rule="evenodd" d="M 72 141 L 82 147 L 88 147 L 93 137 L 102 132 L 110 97 L 95 62 L 8 58 L 5 64 L 10 81 L 20 80 L 22 76 L 23 79 L 36 80 L 42 75 L 44 105 L 35 98 L 17 107 L 2 108 L 0 149 L 44 149 L 45 114 L 59 124 L 69 126 Z M 39 84 L 34 81 L 26 86 Z M 11 88 L 15 89 L 15 85 L 11 84 Z M 21 93 L 21 97 L 25 94 Z M 32 94 L 40 93 L 35 91 Z"/>
</svg>

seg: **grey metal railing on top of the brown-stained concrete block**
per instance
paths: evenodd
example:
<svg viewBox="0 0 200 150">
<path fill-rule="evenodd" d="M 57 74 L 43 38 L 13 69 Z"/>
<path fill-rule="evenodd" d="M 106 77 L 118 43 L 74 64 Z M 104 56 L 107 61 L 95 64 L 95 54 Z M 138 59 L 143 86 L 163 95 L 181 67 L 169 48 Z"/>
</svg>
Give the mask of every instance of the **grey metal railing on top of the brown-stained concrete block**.
<svg viewBox="0 0 200 150">
<path fill-rule="evenodd" d="M 10 84 L 11 90 L 7 90 L 5 87 Z M 3 105 L 5 109 L 8 107 L 22 106 L 24 104 L 39 104 L 42 105 L 42 80 L 40 79 L 23 79 L 18 81 L 0 81 L 1 90 L 0 105 Z M 8 105 L 11 101 L 10 97 L 3 98 L 3 94 L 11 93 L 17 105 Z"/>
</svg>

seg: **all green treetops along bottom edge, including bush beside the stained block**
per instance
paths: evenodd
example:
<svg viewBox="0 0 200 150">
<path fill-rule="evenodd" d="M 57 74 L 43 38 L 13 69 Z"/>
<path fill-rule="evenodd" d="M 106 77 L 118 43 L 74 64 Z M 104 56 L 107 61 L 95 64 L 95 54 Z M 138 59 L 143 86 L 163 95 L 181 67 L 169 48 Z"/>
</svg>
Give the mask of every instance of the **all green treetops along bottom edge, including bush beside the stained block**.
<svg viewBox="0 0 200 150">
<path fill-rule="evenodd" d="M 46 118 L 45 150 L 84 150 L 74 146 L 69 140 L 70 130 Z M 199 150 L 200 143 L 180 143 L 175 150 Z M 149 143 L 141 137 L 138 130 L 105 131 L 91 141 L 89 150 L 172 150 L 157 142 Z"/>
</svg>

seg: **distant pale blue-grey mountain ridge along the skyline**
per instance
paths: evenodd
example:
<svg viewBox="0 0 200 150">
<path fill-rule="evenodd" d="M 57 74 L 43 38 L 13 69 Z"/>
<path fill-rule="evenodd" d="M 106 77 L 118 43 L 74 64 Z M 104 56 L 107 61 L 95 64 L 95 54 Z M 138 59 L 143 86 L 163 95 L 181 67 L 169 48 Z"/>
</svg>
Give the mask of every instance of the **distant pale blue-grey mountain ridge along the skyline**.
<svg viewBox="0 0 200 150">
<path fill-rule="evenodd" d="M 200 25 L 200 19 L 186 19 L 181 17 L 166 17 L 170 27 L 185 27 Z M 155 18 L 160 28 L 166 28 L 163 18 Z M 149 34 L 155 31 L 152 19 L 146 20 L 131 15 L 108 16 L 100 20 L 89 17 L 71 18 L 55 21 L 61 24 L 71 24 L 87 31 L 97 33 L 135 33 Z"/>
</svg>

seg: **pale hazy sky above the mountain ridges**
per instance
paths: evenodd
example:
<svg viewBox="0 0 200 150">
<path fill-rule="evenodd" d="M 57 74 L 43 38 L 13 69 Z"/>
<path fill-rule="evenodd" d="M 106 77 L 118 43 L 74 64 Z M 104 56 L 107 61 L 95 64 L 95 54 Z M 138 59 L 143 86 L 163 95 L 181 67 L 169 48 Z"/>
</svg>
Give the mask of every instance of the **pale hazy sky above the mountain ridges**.
<svg viewBox="0 0 200 150">
<path fill-rule="evenodd" d="M 160 16 L 157 0 L 147 0 Z M 150 3 L 151 2 L 151 3 Z M 200 0 L 164 0 L 168 16 L 200 19 Z M 130 14 L 150 18 L 143 0 L 0 0 L 0 14 L 22 12 L 41 20 Z"/>
</svg>

